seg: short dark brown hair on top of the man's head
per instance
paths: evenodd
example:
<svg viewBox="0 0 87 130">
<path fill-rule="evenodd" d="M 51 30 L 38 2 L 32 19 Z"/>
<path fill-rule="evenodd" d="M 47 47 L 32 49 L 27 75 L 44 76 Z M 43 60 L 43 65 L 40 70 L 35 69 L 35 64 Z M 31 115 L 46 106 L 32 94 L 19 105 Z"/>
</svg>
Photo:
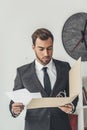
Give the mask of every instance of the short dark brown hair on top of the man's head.
<svg viewBox="0 0 87 130">
<path fill-rule="evenodd" d="M 39 38 L 41 40 L 47 40 L 48 38 L 54 40 L 53 34 L 45 28 L 39 28 L 32 34 L 32 42 L 35 45 L 36 39 Z"/>
</svg>

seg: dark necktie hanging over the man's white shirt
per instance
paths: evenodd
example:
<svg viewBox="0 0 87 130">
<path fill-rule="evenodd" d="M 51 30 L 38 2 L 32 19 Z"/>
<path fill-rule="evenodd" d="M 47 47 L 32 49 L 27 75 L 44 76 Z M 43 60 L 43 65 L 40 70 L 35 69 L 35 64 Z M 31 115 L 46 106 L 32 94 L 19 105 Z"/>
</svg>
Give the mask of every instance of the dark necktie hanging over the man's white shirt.
<svg viewBox="0 0 87 130">
<path fill-rule="evenodd" d="M 42 70 L 44 72 L 44 88 L 45 88 L 45 91 L 48 94 L 48 96 L 50 96 L 51 83 L 50 83 L 49 75 L 47 73 L 47 67 L 44 67 Z"/>
</svg>

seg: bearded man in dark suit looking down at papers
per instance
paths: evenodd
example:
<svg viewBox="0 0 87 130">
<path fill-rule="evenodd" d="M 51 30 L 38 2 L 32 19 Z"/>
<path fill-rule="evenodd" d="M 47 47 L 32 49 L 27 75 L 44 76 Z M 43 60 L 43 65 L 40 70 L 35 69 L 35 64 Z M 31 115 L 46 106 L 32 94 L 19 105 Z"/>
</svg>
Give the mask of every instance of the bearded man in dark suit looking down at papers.
<svg viewBox="0 0 87 130">
<path fill-rule="evenodd" d="M 31 93 L 40 92 L 42 97 L 69 96 L 70 65 L 52 58 L 53 41 L 52 33 L 45 28 L 37 29 L 32 34 L 32 48 L 36 59 L 17 69 L 13 90 L 26 88 Z M 46 68 L 46 73 L 43 67 Z M 44 81 L 48 79 L 47 75 L 50 83 Z M 46 85 L 49 88 L 45 88 Z M 68 113 L 75 111 L 77 102 L 78 97 L 65 106 L 28 109 L 25 117 L 25 130 L 71 130 Z M 12 116 L 17 117 L 23 109 L 22 103 L 11 101 Z"/>
</svg>

